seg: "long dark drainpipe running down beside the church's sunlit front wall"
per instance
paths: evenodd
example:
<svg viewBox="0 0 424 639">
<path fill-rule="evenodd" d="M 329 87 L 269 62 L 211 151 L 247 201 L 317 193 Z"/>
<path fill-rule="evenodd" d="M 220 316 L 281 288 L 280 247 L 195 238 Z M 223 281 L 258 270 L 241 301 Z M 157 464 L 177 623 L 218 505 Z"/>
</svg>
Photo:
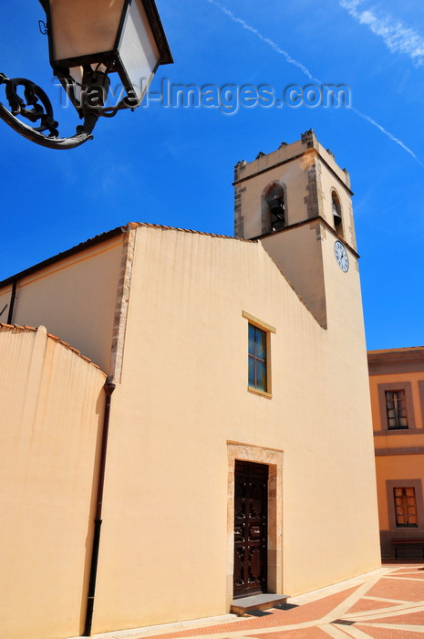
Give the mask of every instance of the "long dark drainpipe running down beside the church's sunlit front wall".
<svg viewBox="0 0 424 639">
<path fill-rule="evenodd" d="M 93 621 L 94 611 L 94 595 L 96 592 L 96 578 L 98 574 L 98 549 L 100 546 L 100 528 L 101 528 L 101 509 L 103 506 L 103 488 L 105 485 L 105 470 L 106 470 L 106 451 L 108 449 L 108 435 L 109 435 L 109 417 L 110 417 L 110 404 L 111 395 L 116 388 L 116 384 L 112 382 L 112 377 L 108 377 L 105 382 L 105 414 L 103 416 L 103 432 L 101 438 L 101 452 L 100 452 L 100 464 L 98 467 L 98 495 L 96 499 L 96 518 L 94 520 L 94 534 L 93 534 L 93 549 L 91 551 L 91 565 L 89 573 L 88 583 L 88 600 L 87 600 L 87 612 L 86 612 L 86 625 L 84 628 L 83 636 L 89 637 L 91 635 L 91 624 Z"/>
</svg>

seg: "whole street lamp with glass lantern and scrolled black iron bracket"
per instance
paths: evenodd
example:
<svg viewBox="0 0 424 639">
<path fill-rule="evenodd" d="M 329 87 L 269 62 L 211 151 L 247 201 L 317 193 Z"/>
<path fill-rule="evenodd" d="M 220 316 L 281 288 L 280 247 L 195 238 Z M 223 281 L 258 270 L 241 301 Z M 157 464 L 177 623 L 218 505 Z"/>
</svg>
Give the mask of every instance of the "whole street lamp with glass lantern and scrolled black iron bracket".
<svg viewBox="0 0 424 639">
<path fill-rule="evenodd" d="M 172 62 L 154 0 L 39 0 L 47 14 L 50 64 L 84 123 L 60 138 L 46 93 L 23 78 L 8 79 L 0 118 L 15 131 L 52 149 L 72 149 L 92 138 L 100 116 L 136 109 L 157 68 Z M 107 104 L 109 85 L 117 79 Z M 18 94 L 24 88 L 24 97 Z M 16 116 L 37 123 L 30 127 Z M 38 123 L 39 120 L 39 123 Z"/>
</svg>

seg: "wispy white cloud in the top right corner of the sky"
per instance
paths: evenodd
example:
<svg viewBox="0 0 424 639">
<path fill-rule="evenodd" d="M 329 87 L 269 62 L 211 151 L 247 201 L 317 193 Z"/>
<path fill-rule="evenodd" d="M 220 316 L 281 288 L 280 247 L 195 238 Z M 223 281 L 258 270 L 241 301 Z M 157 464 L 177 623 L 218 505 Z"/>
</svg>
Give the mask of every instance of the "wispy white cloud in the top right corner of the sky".
<svg viewBox="0 0 424 639">
<path fill-rule="evenodd" d="M 350 16 L 361 25 L 366 25 L 376 36 L 381 37 L 392 53 L 404 53 L 416 67 L 424 64 L 424 37 L 414 29 L 402 25 L 392 16 L 377 16 L 375 8 L 361 9 L 364 0 L 341 0 Z"/>
</svg>

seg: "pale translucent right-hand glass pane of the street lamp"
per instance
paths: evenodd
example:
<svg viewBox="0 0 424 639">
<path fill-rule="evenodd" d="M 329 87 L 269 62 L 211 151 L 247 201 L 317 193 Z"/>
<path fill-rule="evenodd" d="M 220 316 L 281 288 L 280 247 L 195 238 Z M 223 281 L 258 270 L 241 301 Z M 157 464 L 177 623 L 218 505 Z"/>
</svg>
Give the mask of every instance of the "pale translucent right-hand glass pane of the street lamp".
<svg viewBox="0 0 424 639">
<path fill-rule="evenodd" d="M 141 100 L 153 78 L 160 53 L 140 0 L 133 0 L 129 5 L 119 42 L 119 57 L 137 98 Z"/>
</svg>

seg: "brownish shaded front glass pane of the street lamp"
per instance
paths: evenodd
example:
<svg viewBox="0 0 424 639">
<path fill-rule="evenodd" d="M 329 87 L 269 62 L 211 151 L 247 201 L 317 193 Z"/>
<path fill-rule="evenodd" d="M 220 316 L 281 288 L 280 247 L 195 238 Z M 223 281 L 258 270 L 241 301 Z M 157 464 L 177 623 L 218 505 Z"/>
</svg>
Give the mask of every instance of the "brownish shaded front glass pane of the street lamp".
<svg viewBox="0 0 424 639">
<path fill-rule="evenodd" d="M 113 49 L 125 0 L 49 0 L 57 62 Z"/>
</svg>

